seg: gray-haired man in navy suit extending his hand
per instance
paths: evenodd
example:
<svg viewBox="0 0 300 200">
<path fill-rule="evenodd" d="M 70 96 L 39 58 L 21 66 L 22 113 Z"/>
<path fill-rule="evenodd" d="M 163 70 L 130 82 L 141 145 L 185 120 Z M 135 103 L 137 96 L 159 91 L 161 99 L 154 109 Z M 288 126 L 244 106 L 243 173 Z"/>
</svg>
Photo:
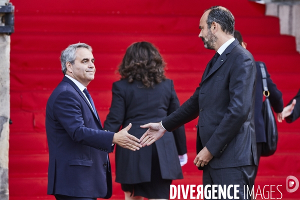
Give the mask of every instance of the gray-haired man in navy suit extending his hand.
<svg viewBox="0 0 300 200">
<path fill-rule="evenodd" d="M 109 198 L 112 193 L 108 153 L 113 143 L 130 150 L 141 147 L 128 134 L 104 131 L 86 86 L 95 73 L 91 47 L 69 45 L 61 52 L 64 77 L 46 105 L 49 147 L 48 189 L 56 199 Z"/>
</svg>

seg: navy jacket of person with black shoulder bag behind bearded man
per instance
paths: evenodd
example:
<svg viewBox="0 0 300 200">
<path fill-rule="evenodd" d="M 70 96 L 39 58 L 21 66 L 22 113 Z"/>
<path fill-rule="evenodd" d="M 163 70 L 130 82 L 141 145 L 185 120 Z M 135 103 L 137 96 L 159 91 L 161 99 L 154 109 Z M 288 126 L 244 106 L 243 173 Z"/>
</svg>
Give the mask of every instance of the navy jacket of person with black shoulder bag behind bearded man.
<svg viewBox="0 0 300 200">
<path fill-rule="evenodd" d="M 267 88 L 268 91 L 270 92 L 268 98 L 271 103 L 271 106 L 276 113 L 282 112 L 283 110 L 282 93 L 277 89 L 276 84 L 273 83 L 272 79 L 270 78 L 270 74 L 266 70 L 264 63 L 263 66 L 266 73 Z M 263 116 L 262 116 L 262 100 L 263 100 L 262 75 L 261 75 L 259 62 L 256 62 L 256 71 L 257 71 L 257 81 L 256 81 L 256 92 L 255 92 L 256 94 L 255 94 L 255 115 L 254 115 L 255 135 L 256 135 L 256 142 L 266 142 L 265 129 L 263 123 Z"/>
</svg>

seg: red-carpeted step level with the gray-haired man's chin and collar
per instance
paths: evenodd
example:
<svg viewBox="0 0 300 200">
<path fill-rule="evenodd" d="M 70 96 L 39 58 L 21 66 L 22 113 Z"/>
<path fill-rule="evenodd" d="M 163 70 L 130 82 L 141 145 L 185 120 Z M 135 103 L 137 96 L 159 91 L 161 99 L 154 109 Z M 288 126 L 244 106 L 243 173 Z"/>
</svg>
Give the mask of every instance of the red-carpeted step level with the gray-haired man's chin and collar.
<svg viewBox="0 0 300 200">
<path fill-rule="evenodd" d="M 204 70 L 204 69 L 203 69 Z M 52 91 L 57 84 L 62 80 L 63 74 L 60 71 L 44 71 L 43 76 L 35 77 L 37 72 L 35 71 L 18 71 L 10 75 L 11 89 L 12 91 Z M 299 77 L 300 73 L 286 72 L 286 73 L 273 73 L 271 75 L 272 80 L 278 85 L 279 88 L 289 88 L 297 92 L 300 85 Z M 201 81 L 202 73 L 195 73 L 193 71 L 188 72 L 166 72 L 166 76 L 173 80 L 174 88 L 176 91 L 194 91 L 199 82 Z M 288 82 L 286 80 L 289 80 Z M 119 80 L 119 76 L 110 71 L 103 71 L 96 73 L 93 81 L 90 82 L 88 88 L 90 91 L 103 91 L 110 90 L 112 83 Z M 188 80 L 188 81 L 186 81 Z M 294 95 L 295 95 L 294 94 Z"/>
</svg>

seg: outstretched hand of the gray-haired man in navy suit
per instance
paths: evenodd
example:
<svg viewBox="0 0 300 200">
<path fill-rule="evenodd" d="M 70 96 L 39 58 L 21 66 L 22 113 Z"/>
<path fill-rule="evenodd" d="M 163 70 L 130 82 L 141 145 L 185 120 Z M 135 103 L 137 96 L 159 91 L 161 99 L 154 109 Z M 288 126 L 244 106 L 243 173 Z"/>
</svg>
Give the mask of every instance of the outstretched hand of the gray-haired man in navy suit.
<svg viewBox="0 0 300 200">
<path fill-rule="evenodd" d="M 115 143 L 123 148 L 128 148 L 130 150 L 139 150 L 141 145 L 139 144 L 139 139 L 135 136 L 129 134 L 127 131 L 131 128 L 131 123 L 120 131 L 114 133 L 112 138 L 112 143 Z"/>
</svg>

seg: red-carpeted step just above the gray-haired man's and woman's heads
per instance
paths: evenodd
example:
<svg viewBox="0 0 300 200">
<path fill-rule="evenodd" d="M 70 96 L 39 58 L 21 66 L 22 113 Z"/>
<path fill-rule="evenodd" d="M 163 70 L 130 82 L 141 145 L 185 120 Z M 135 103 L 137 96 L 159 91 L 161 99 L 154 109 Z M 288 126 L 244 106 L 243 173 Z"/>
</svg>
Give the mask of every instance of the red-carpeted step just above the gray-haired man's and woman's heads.
<svg viewBox="0 0 300 200">
<path fill-rule="evenodd" d="M 244 35 L 243 39 L 250 42 L 248 50 L 252 53 L 294 53 L 294 37 L 286 35 Z M 158 47 L 160 52 L 167 53 L 205 53 L 211 50 L 204 48 L 203 42 L 198 38 L 198 34 L 121 34 L 121 33 L 73 33 L 72 37 L 68 33 L 18 33 L 11 35 L 11 45 L 13 51 L 24 51 L 23 46 L 27 46 L 27 52 L 60 52 L 68 44 L 74 41 L 85 42 L 89 45 L 98 46 L 95 52 L 104 53 L 124 53 L 125 49 L 136 41 L 149 41 Z M 276 41 L 276 42 L 274 42 Z M 47 46 L 40 48 L 39 43 Z M 180 48 L 178 48 L 180 46 Z M 278 47 L 280 46 L 280 47 Z"/>
</svg>

